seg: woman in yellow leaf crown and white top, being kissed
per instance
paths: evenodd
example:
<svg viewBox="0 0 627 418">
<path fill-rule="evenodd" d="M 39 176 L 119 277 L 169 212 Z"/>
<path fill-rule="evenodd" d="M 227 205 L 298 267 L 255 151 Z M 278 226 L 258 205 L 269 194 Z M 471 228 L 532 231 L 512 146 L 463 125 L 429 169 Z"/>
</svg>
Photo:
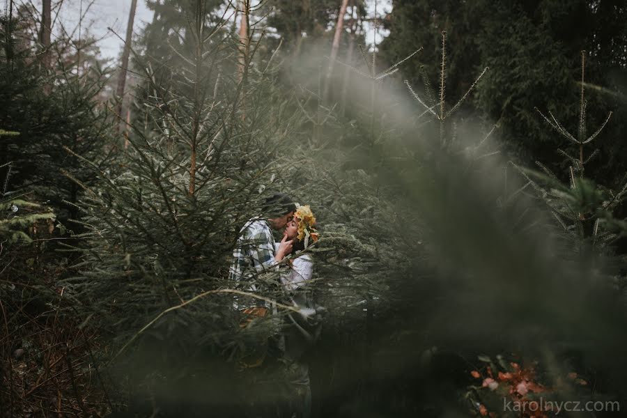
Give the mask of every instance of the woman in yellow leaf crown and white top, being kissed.
<svg viewBox="0 0 627 418">
<path fill-rule="evenodd" d="M 285 226 L 284 240 L 292 240 L 292 254 L 288 261 L 290 269 L 281 274 L 281 284 L 286 290 L 288 304 L 298 310 L 298 314 L 286 313 L 285 359 L 291 362 L 289 381 L 293 390 L 293 416 L 306 418 L 311 415 L 311 387 L 309 385 L 309 367 L 302 357 L 311 343 L 320 334 L 320 312 L 311 297 L 308 281 L 314 272 L 314 260 L 311 254 L 304 252 L 318 241 L 320 234 L 314 228 L 316 218 L 308 205 L 296 203 L 294 216 Z M 277 245 L 279 243 L 277 242 Z"/>
</svg>

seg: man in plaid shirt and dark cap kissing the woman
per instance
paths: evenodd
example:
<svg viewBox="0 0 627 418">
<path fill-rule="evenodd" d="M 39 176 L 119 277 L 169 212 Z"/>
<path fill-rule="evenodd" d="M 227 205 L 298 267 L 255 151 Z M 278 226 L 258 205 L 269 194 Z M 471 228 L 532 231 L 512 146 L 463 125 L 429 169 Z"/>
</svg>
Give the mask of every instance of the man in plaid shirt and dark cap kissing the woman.
<svg viewBox="0 0 627 418">
<path fill-rule="evenodd" d="M 229 270 L 229 279 L 247 282 L 245 291 L 258 291 L 256 279 L 258 274 L 266 272 L 292 251 L 292 241 L 284 238 L 275 250 L 272 229 L 284 228 L 293 217 L 296 206 L 293 201 L 282 193 L 274 194 L 265 201 L 264 212 L 268 218 L 251 218 L 240 230 L 240 237 L 233 251 L 233 264 Z M 240 299 L 240 298 L 238 298 Z M 249 307 L 265 307 L 265 301 L 256 299 L 247 303 L 235 302 L 238 309 Z M 263 315 L 264 316 L 265 312 Z"/>
</svg>

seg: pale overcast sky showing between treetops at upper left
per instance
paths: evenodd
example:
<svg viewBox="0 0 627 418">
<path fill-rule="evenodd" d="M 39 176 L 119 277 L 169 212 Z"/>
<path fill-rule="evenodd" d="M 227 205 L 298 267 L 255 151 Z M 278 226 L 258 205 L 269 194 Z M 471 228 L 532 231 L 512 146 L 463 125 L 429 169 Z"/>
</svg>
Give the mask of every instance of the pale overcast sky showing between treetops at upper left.
<svg viewBox="0 0 627 418">
<path fill-rule="evenodd" d="M 315 1 L 315 0 L 314 0 Z M 40 10 L 40 0 L 17 0 L 15 3 L 33 3 Z M 91 7 L 86 10 L 91 3 Z M 389 13 L 392 10 L 392 0 L 377 0 L 377 14 Z M 87 26 L 88 30 L 96 37 L 101 38 L 98 45 L 100 52 L 105 58 L 116 59 L 121 54 L 123 41 L 107 28 L 111 28 L 121 38 L 125 37 L 126 25 L 128 22 L 128 13 L 130 10 L 131 0 L 52 0 L 52 7 L 55 8 L 61 4 L 59 17 L 63 18 L 63 23 L 68 29 L 73 29 L 79 20 L 81 10 L 85 13 L 86 22 L 83 27 Z M 339 4 L 339 0 L 338 0 Z M 375 0 L 368 0 L 369 15 L 374 15 Z M 56 7 L 59 9 L 58 7 Z M 53 20 L 55 11 L 52 12 Z M 141 28 L 150 22 L 153 13 L 148 10 L 146 0 L 137 1 L 137 12 L 135 13 L 134 32 L 138 33 Z M 54 32 L 54 30 L 53 30 Z M 374 40 L 373 31 L 368 31 L 366 42 L 371 44 Z M 380 31 L 376 38 L 377 43 L 385 36 L 385 32 Z"/>
</svg>

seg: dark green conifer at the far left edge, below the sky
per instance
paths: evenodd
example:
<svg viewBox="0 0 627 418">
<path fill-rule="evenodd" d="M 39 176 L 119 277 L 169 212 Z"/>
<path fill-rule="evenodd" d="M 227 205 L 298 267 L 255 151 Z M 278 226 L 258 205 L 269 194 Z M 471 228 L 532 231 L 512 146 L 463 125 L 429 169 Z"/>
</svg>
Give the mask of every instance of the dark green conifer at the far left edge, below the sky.
<svg viewBox="0 0 627 418">
<path fill-rule="evenodd" d="M 63 147 L 103 167 L 111 160 L 114 131 L 106 106 L 100 103 L 110 71 L 102 69 L 93 56 L 98 51 L 88 47 L 78 61 L 72 49 L 88 39 L 72 44 L 69 50 L 67 40 L 58 40 L 49 51 L 54 64 L 47 70 L 42 54 L 32 58 L 36 49 L 29 43 L 27 48 L 18 48 L 15 38 L 23 33 L 10 25 L 2 28 L 0 47 L 15 50 L 13 58 L 0 61 L 0 124 L 20 135 L 3 137 L 0 164 L 13 161 L 13 187 L 31 189 L 49 199 L 59 219 L 75 218 L 72 203 L 79 198 L 80 188 L 61 170 L 86 185 L 94 178 Z"/>
</svg>

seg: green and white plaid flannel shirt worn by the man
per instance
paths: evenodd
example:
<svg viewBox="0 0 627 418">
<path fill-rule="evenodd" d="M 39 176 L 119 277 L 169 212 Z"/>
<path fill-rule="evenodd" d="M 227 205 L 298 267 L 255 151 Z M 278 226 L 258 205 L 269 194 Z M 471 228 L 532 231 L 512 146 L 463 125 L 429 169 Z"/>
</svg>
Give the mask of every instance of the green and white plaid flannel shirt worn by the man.
<svg viewBox="0 0 627 418">
<path fill-rule="evenodd" d="M 240 238 L 233 250 L 229 279 L 245 281 L 247 284 L 242 290 L 256 292 L 258 290 L 254 283 L 256 276 L 277 265 L 277 261 L 274 260 L 275 254 L 274 235 L 268 221 L 259 217 L 250 219 L 240 230 Z M 259 299 L 249 303 L 242 302 L 241 298 L 235 298 L 235 308 L 265 306 L 265 301 Z"/>
</svg>

